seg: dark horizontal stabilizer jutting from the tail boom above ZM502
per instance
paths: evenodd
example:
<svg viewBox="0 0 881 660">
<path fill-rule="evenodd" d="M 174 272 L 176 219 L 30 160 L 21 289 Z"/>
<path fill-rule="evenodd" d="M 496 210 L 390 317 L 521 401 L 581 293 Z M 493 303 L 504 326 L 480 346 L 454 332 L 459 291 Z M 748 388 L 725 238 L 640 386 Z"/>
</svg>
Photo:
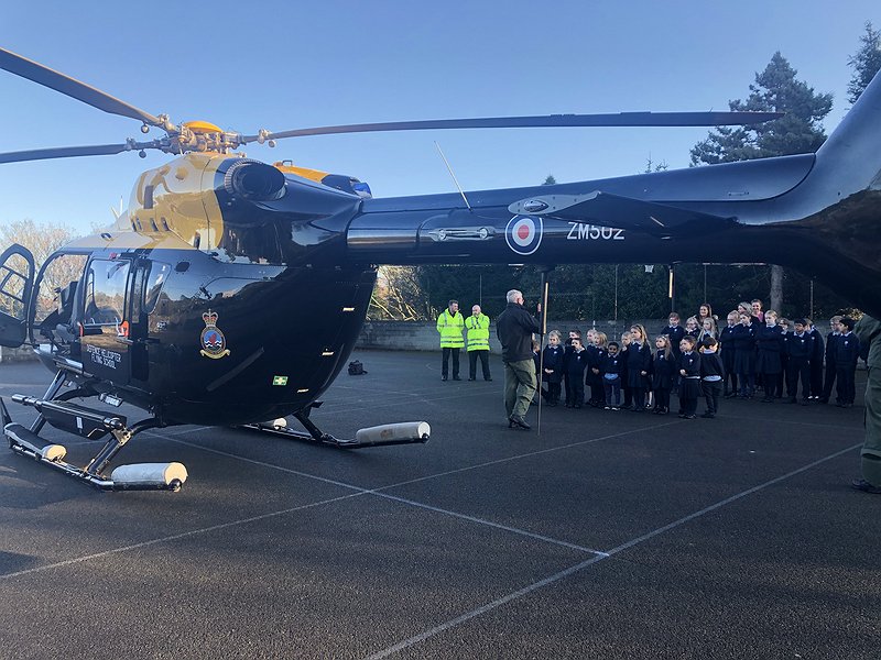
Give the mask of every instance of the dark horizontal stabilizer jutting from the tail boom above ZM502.
<svg viewBox="0 0 881 660">
<path fill-rule="evenodd" d="M 715 232 L 737 223 L 736 218 L 711 216 L 665 204 L 595 190 L 587 195 L 530 197 L 508 207 L 512 213 L 569 222 L 589 222 L 645 232 L 655 237 Z"/>
</svg>

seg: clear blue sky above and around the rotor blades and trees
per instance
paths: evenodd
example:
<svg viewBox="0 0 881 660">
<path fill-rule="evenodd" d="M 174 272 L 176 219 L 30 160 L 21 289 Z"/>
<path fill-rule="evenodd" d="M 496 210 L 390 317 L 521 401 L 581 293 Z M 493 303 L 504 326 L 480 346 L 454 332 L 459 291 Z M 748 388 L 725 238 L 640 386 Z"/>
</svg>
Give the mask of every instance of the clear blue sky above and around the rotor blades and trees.
<svg viewBox="0 0 881 660">
<path fill-rule="evenodd" d="M 7 2 L 0 44 L 176 122 L 244 133 L 336 123 L 727 110 L 775 51 L 847 110 L 849 55 L 878 0 L 774 2 Z M 139 124 L 0 72 L 0 151 L 141 139 Z M 159 136 L 154 129 L 151 136 Z M 688 164 L 707 129 L 502 129 L 315 136 L 251 157 L 351 174 L 377 197 Z M 0 165 L 0 223 L 112 220 L 159 153 Z"/>
</svg>

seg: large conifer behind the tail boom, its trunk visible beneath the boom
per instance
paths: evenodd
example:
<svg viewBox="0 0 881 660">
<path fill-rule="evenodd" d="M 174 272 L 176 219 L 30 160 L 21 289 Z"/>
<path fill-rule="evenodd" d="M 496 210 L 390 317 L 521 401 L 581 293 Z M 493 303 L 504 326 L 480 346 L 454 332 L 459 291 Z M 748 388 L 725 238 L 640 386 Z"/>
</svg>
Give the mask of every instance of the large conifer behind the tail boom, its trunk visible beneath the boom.
<svg viewBox="0 0 881 660">
<path fill-rule="evenodd" d="M 750 85 L 746 101 L 729 101 L 732 111 L 785 112 L 781 119 L 750 127 L 719 127 L 692 148 L 692 165 L 732 163 L 817 151 L 826 141 L 820 122 L 833 108 L 830 94 L 816 94 L 796 80 L 796 72 L 780 51 Z M 783 270 L 772 266 L 771 306 L 783 304 Z"/>
</svg>

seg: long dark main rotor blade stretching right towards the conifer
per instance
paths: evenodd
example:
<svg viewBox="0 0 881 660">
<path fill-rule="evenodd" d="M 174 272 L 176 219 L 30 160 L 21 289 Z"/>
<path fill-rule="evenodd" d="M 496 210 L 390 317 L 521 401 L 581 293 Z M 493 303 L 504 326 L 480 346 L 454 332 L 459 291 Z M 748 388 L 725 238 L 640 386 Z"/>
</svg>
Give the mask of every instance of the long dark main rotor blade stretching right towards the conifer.
<svg viewBox="0 0 881 660">
<path fill-rule="evenodd" d="M 333 133 L 368 133 L 373 131 L 424 131 L 431 129 L 516 129 L 539 127 L 725 127 L 761 123 L 780 119 L 782 112 L 620 112 L 610 114 L 548 114 L 541 117 L 485 117 L 476 119 L 437 119 L 392 121 L 296 129 L 262 135 L 243 135 L 242 141 L 280 140 Z"/>
</svg>

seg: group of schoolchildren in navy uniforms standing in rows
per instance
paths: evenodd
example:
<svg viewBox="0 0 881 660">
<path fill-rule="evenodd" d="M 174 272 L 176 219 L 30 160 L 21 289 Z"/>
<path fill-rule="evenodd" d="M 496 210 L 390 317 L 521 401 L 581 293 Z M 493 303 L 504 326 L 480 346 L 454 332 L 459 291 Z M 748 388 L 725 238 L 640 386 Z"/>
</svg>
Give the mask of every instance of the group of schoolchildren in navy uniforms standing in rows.
<svg viewBox="0 0 881 660">
<path fill-rule="evenodd" d="M 830 319 L 825 349 L 823 336 L 808 319 L 795 319 L 790 328 L 790 321 L 773 310 L 763 312 L 760 300 L 738 305 L 721 331 L 707 304 L 685 327 L 675 312 L 668 322 L 654 339 L 654 351 L 639 323 L 621 336 L 620 343 L 596 329 L 588 330 L 584 340 L 572 330 L 563 343 L 561 332 L 552 330 L 543 351 L 533 342 L 535 371 L 547 384 L 541 396 L 548 406 L 557 406 L 565 386 L 567 408 L 586 403 L 606 410 L 652 409 L 667 415 L 675 392 L 679 417 L 695 419 L 701 397 L 706 400 L 701 417 L 713 418 L 722 397 L 749 399 L 763 387 L 761 400 L 771 403 L 783 397 L 785 383 L 790 403 L 827 403 L 837 382 L 837 405 L 853 405 L 860 348 L 852 332 L 855 321 L 848 317 Z M 590 388 L 587 402 L 585 385 Z"/>
</svg>

